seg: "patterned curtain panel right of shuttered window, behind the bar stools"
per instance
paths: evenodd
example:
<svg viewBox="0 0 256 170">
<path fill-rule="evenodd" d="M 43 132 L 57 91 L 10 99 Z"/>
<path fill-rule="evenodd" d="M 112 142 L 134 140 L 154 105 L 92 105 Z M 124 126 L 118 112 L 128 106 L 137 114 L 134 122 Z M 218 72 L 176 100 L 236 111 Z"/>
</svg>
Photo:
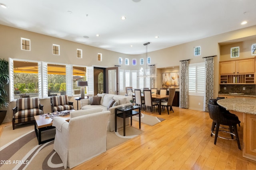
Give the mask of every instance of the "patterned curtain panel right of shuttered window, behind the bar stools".
<svg viewBox="0 0 256 170">
<path fill-rule="evenodd" d="M 208 101 L 214 98 L 214 56 L 205 57 L 205 92 L 204 92 L 204 111 L 208 111 Z"/>
</svg>

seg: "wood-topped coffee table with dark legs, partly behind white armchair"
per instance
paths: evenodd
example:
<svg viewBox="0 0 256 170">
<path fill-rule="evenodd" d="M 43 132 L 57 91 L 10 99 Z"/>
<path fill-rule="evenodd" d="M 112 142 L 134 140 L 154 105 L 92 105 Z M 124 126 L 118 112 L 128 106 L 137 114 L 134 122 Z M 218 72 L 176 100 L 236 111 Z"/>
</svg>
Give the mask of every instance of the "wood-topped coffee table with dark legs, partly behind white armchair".
<svg viewBox="0 0 256 170">
<path fill-rule="evenodd" d="M 49 142 L 49 141 L 53 141 L 54 138 L 51 138 L 51 139 L 47 139 L 45 141 L 41 141 L 42 138 L 41 138 L 41 132 L 42 131 L 47 131 L 47 130 L 50 130 L 50 129 L 54 129 L 55 127 L 52 126 L 52 121 L 53 119 L 50 118 L 50 117 L 46 117 L 47 114 L 43 114 L 43 115 L 36 115 L 34 116 L 34 119 L 35 119 L 35 132 L 36 132 L 36 137 L 38 139 L 38 145 L 41 145 L 42 143 L 46 143 L 46 142 Z M 66 116 L 59 116 L 61 117 L 62 119 L 66 120 L 66 121 L 69 121 L 70 119 L 70 115 L 66 115 Z"/>
</svg>

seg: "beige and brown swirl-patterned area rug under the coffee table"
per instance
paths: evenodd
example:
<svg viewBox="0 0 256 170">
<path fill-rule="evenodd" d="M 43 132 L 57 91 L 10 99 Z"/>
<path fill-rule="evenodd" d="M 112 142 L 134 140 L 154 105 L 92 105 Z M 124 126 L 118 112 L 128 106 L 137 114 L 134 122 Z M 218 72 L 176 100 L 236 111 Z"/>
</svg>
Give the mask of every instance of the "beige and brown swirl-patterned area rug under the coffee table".
<svg viewBox="0 0 256 170">
<path fill-rule="evenodd" d="M 52 131 L 48 133 L 52 134 Z M 143 131 L 129 125 L 126 126 L 125 137 L 122 136 L 123 128 L 118 129 L 117 132 L 107 132 L 107 150 L 142 133 Z M 64 166 L 53 150 L 53 144 L 54 141 L 50 141 L 38 145 L 34 125 L 25 125 L 15 130 L 12 130 L 11 125 L 6 126 L 0 137 L 0 169 L 62 170 Z"/>
</svg>

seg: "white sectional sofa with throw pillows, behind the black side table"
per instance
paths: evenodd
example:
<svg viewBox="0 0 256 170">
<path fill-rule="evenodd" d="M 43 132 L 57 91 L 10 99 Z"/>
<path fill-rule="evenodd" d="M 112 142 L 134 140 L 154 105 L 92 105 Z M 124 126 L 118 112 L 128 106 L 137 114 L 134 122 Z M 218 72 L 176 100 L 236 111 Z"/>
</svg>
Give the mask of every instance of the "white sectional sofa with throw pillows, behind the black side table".
<svg viewBox="0 0 256 170">
<path fill-rule="evenodd" d="M 93 104 L 94 96 L 89 97 L 89 99 L 81 99 L 81 109 L 92 109 L 100 107 L 102 111 L 110 111 L 110 117 L 108 121 L 108 131 L 115 130 L 115 108 L 122 107 L 122 105 L 130 106 L 130 100 L 132 100 L 131 96 L 121 96 L 115 94 L 97 94 L 97 96 L 101 97 L 100 105 L 91 105 Z M 110 106 L 110 102 L 115 100 L 113 106 Z M 95 103 L 94 103 L 95 104 Z M 108 108 L 109 107 L 109 108 Z M 126 125 L 130 123 L 130 119 L 126 118 Z M 117 128 L 123 127 L 123 120 L 120 117 L 117 117 Z"/>
</svg>

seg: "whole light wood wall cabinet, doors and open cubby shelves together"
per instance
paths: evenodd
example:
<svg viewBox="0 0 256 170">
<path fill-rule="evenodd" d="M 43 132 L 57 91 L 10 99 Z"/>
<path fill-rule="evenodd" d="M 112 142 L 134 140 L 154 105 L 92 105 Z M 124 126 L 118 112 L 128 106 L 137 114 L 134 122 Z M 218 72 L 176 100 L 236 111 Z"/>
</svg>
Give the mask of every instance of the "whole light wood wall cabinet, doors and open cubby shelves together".
<svg viewBox="0 0 256 170">
<path fill-rule="evenodd" d="M 220 62 L 220 84 L 256 84 L 256 58 Z"/>
</svg>

